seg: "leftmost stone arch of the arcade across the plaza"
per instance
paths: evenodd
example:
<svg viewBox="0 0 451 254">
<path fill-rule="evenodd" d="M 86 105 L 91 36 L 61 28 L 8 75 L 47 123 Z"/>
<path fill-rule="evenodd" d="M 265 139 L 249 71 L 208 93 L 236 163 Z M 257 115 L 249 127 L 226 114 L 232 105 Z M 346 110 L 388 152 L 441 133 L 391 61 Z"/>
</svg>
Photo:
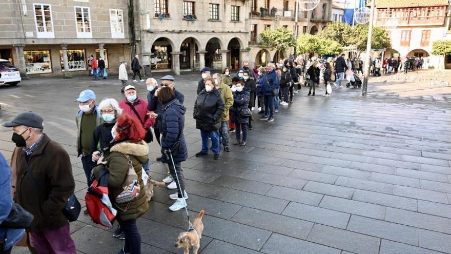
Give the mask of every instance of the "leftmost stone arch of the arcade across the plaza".
<svg viewBox="0 0 451 254">
<path fill-rule="evenodd" d="M 166 36 L 156 37 L 151 44 L 151 68 L 154 70 L 170 70 L 173 67 L 172 55 L 173 51 L 178 51 L 174 48 L 174 41 Z"/>
</svg>

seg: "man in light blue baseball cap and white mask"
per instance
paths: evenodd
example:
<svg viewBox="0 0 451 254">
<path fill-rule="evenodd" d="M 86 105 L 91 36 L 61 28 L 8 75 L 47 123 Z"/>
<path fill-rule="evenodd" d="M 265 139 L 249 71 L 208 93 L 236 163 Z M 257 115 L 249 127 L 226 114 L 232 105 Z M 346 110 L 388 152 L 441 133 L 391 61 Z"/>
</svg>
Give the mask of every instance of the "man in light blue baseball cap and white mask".
<svg viewBox="0 0 451 254">
<path fill-rule="evenodd" d="M 92 161 L 92 141 L 94 129 L 100 125 L 100 112 L 95 105 L 95 93 L 92 90 L 83 90 L 75 100 L 79 110 L 75 117 L 77 124 L 77 154 L 81 155 L 81 164 L 86 175 L 86 183 L 91 186 L 91 170 L 95 167 Z M 86 209 L 85 209 L 86 211 Z"/>
</svg>

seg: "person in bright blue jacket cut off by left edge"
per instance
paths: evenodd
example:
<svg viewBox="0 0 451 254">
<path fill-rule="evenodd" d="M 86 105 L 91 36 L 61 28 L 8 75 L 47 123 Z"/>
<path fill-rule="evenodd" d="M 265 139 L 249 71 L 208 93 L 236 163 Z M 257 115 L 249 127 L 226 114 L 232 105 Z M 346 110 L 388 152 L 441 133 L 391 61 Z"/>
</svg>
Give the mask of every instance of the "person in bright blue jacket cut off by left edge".
<svg viewBox="0 0 451 254">
<path fill-rule="evenodd" d="M 0 224 L 2 224 L 11 213 L 11 209 L 13 208 L 14 201 L 11 198 L 11 186 L 15 183 L 12 183 L 11 179 L 11 169 L 6 162 L 3 154 L 0 153 Z M 10 254 L 12 247 L 20 241 L 25 236 L 25 229 L 23 228 L 7 228 L 0 226 L 0 236 L 4 239 L 3 245 L 0 245 L 0 253 Z"/>
</svg>

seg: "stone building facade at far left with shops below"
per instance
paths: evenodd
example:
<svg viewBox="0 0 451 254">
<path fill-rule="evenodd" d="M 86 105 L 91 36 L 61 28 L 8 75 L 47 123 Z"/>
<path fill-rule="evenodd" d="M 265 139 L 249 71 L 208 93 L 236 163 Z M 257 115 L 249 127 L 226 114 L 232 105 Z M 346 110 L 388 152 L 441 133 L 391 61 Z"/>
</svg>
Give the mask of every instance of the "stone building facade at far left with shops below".
<svg viewBox="0 0 451 254">
<path fill-rule="evenodd" d="M 5 0 L 0 9 L 0 58 L 25 78 L 88 74 L 91 55 L 117 73 L 131 59 L 126 0 Z"/>
</svg>

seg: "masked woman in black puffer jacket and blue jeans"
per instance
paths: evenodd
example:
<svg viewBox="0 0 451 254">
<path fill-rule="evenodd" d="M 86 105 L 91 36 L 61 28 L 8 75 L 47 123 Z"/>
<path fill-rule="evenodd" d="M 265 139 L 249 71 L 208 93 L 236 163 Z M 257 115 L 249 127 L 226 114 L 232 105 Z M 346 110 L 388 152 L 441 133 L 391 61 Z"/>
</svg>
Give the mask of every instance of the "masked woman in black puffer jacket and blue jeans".
<svg viewBox="0 0 451 254">
<path fill-rule="evenodd" d="M 224 111 L 224 102 L 221 93 L 215 88 L 215 80 L 207 77 L 205 88 L 197 95 L 194 103 L 193 117 L 196 120 L 196 128 L 200 130 L 202 137 L 202 149 L 196 153 L 196 157 L 205 156 L 209 150 L 209 138 L 212 142 L 213 158 L 219 160 L 219 128 Z"/>
</svg>

